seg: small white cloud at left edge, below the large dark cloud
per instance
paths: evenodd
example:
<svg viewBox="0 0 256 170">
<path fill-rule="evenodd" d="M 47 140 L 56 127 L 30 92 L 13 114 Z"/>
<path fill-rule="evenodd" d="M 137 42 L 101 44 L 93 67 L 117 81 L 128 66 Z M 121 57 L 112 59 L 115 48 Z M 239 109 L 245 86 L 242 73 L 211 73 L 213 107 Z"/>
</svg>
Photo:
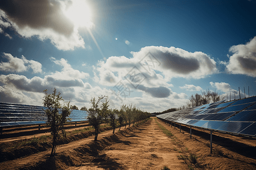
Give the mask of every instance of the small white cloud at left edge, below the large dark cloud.
<svg viewBox="0 0 256 170">
<path fill-rule="evenodd" d="M 23 72 L 31 68 L 33 73 L 42 73 L 42 65 L 37 61 L 28 60 L 24 56 L 22 56 L 22 58 L 13 57 L 8 53 L 3 53 L 3 55 L 3 57 L 7 58 L 9 62 L 1 62 L 0 70 Z"/>
</svg>

